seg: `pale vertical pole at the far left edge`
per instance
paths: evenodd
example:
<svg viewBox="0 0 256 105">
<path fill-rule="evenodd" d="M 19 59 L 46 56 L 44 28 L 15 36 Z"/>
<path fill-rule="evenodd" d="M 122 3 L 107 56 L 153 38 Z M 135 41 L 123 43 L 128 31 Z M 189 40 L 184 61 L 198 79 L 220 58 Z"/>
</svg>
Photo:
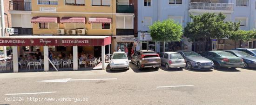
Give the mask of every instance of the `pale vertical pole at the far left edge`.
<svg viewBox="0 0 256 105">
<path fill-rule="evenodd" d="M 5 37 L 5 10 L 4 10 L 4 0 L 0 1 L 1 6 L 1 37 Z M 4 56 L 7 57 L 6 46 L 4 46 Z"/>
</svg>

